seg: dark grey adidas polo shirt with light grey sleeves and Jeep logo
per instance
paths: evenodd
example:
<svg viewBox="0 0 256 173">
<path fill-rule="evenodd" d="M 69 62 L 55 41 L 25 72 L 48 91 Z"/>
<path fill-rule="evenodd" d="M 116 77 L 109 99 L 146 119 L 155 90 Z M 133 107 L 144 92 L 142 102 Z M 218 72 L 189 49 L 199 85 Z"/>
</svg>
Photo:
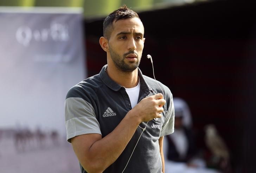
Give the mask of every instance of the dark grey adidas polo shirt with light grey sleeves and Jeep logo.
<svg viewBox="0 0 256 173">
<path fill-rule="evenodd" d="M 73 86 L 66 95 L 65 125 L 68 142 L 77 135 L 88 133 L 98 133 L 104 138 L 132 109 L 125 88 L 109 78 L 105 72 L 106 68 L 107 65 L 99 74 Z M 140 78 L 138 102 L 145 97 L 162 93 L 154 79 L 142 75 L 140 69 L 138 69 L 138 75 Z M 148 122 L 124 171 L 126 173 L 162 172 L 158 139 L 174 131 L 174 106 L 169 88 L 160 82 L 158 84 L 163 89 L 166 100 L 166 104 L 163 106 L 164 112 L 161 118 Z M 140 124 L 142 128 L 145 126 L 146 122 Z M 123 171 L 141 133 L 142 129 L 138 127 L 122 154 L 105 169 L 104 173 L 121 173 Z M 82 166 L 81 172 L 86 173 Z"/>
</svg>

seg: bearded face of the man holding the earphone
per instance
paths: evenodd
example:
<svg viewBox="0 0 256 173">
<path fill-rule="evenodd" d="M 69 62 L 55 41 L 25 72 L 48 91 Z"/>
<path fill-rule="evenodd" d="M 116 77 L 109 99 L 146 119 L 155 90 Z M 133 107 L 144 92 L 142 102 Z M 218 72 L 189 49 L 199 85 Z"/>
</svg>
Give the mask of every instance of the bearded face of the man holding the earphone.
<svg viewBox="0 0 256 173">
<path fill-rule="evenodd" d="M 115 66 L 123 72 L 132 72 L 140 64 L 144 47 L 144 27 L 139 18 L 113 22 L 109 38 L 109 53 Z"/>
</svg>

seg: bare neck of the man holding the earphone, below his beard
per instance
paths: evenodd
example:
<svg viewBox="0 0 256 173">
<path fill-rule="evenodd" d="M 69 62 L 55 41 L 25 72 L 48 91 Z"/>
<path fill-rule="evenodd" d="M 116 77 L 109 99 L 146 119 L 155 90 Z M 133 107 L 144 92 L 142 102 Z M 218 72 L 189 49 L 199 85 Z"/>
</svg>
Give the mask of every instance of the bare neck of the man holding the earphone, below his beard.
<svg viewBox="0 0 256 173">
<path fill-rule="evenodd" d="M 136 68 L 132 72 L 122 72 L 115 66 L 108 65 L 106 72 L 112 80 L 126 88 L 133 88 L 137 86 L 139 82 L 138 68 Z"/>
</svg>

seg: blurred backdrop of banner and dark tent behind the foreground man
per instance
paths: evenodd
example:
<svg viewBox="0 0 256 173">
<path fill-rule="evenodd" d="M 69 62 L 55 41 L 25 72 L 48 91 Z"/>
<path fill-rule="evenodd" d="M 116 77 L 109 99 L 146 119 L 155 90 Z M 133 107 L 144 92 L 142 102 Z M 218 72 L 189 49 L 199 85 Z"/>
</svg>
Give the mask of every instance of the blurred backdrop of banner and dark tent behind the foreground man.
<svg viewBox="0 0 256 173">
<path fill-rule="evenodd" d="M 0 173 L 79 172 L 65 95 L 107 63 L 103 20 L 122 4 L 145 27 L 142 73 L 151 54 L 175 98 L 166 172 L 255 172 L 255 2 L 0 0 Z"/>
</svg>

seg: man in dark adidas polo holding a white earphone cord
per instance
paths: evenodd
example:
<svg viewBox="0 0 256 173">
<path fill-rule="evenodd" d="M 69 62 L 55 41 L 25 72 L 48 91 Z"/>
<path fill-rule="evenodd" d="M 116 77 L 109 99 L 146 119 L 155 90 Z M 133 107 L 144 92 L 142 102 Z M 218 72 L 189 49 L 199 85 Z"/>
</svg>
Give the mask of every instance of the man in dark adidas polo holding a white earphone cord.
<svg viewBox="0 0 256 173">
<path fill-rule="evenodd" d="M 174 129 L 172 94 L 159 82 L 163 98 L 138 68 L 143 35 L 139 16 L 126 6 L 109 14 L 100 38 L 107 65 L 66 96 L 67 140 L 82 172 L 164 172 L 163 136 Z"/>
</svg>

